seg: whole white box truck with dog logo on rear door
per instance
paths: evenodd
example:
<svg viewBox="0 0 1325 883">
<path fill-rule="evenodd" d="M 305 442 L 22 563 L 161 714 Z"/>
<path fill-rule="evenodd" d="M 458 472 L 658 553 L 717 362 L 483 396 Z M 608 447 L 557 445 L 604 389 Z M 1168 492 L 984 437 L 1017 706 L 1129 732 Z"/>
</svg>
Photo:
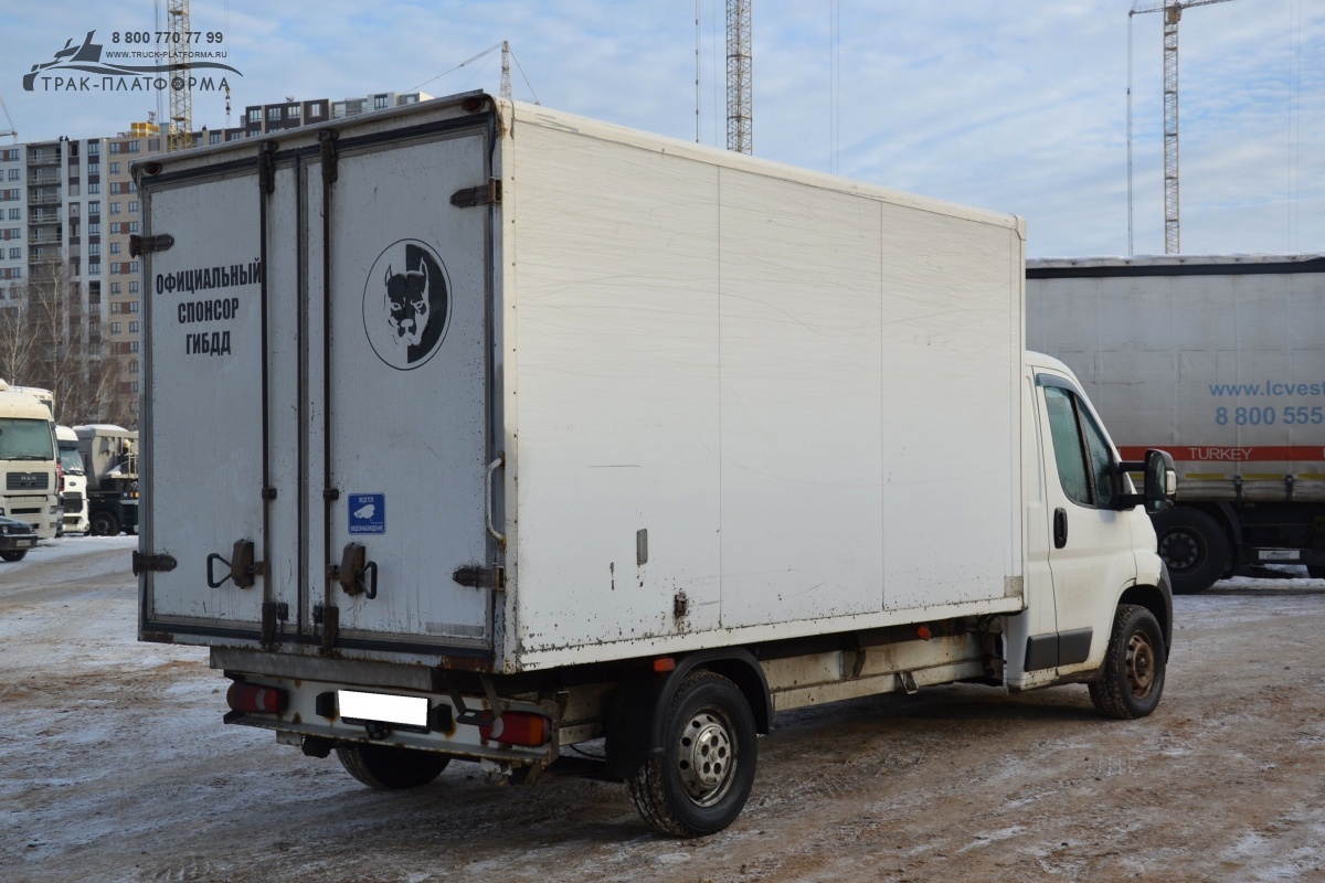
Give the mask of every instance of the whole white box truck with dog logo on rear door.
<svg viewBox="0 0 1325 883">
<path fill-rule="evenodd" d="M 1159 702 L 1169 474 L 1024 355 L 1019 218 L 484 94 L 135 177 L 139 637 L 227 721 L 698 835 L 778 711 Z"/>
</svg>

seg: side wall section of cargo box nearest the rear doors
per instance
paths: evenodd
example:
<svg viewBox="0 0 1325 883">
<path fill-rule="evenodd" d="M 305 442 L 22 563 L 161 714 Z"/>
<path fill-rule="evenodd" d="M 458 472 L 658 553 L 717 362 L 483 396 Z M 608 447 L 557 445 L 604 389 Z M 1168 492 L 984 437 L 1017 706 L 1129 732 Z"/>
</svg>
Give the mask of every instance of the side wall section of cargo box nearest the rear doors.
<svg viewBox="0 0 1325 883">
<path fill-rule="evenodd" d="M 718 169 L 535 126 L 514 143 L 517 639 L 712 629 Z"/>
</svg>

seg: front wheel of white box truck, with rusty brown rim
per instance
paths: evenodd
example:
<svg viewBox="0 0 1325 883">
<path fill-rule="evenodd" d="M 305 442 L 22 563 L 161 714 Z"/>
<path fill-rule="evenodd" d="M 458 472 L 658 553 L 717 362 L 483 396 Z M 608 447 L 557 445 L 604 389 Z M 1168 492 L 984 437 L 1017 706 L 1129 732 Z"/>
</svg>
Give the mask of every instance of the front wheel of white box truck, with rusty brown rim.
<svg viewBox="0 0 1325 883">
<path fill-rule="evenodd" d="M 1145 718 L 1159 704 L 1167 666 L 1163 630 L 1155 616 L 1136 604 L 1120 604 L 1104 671 L 1090 683 L 1090 702 L 1108 718 Z"/>
</svg>

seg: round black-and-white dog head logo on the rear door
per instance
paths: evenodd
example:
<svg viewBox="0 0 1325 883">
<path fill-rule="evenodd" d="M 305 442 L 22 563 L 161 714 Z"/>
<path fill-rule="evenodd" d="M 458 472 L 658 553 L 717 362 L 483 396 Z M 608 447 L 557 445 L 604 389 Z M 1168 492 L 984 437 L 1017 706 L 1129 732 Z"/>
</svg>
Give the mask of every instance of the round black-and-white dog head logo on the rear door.
<svg viewBox="0 0 1325 883">
<path fill-rule="evenodd" d="M 419 240 L 378 256 L 363 291 L 363 328 L 382 361 L 408 371 L 437 352 L 450 320 L 449 289 L 441 258 Z"/>
</svg>

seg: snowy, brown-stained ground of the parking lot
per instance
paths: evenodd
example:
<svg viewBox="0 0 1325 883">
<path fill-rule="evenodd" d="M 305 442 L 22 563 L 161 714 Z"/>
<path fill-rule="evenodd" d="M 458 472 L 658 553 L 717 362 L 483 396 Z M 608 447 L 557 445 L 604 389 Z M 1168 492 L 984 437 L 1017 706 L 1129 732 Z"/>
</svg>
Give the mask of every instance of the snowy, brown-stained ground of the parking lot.
<svg viewBox="0 0 1325 883">
<path fill-rule="evenodd" d="M 135 537 L 0 564 L 0 880 L 1325 879 L 1325 582 L 1175 600 L 1159 711 L 1080 686 L 925 690 L 779 716 L 745 814 L 660 839 L 624 789 L 378 793 L 225 727 L 199 647 L 136 641 Z"/>
</svg>

